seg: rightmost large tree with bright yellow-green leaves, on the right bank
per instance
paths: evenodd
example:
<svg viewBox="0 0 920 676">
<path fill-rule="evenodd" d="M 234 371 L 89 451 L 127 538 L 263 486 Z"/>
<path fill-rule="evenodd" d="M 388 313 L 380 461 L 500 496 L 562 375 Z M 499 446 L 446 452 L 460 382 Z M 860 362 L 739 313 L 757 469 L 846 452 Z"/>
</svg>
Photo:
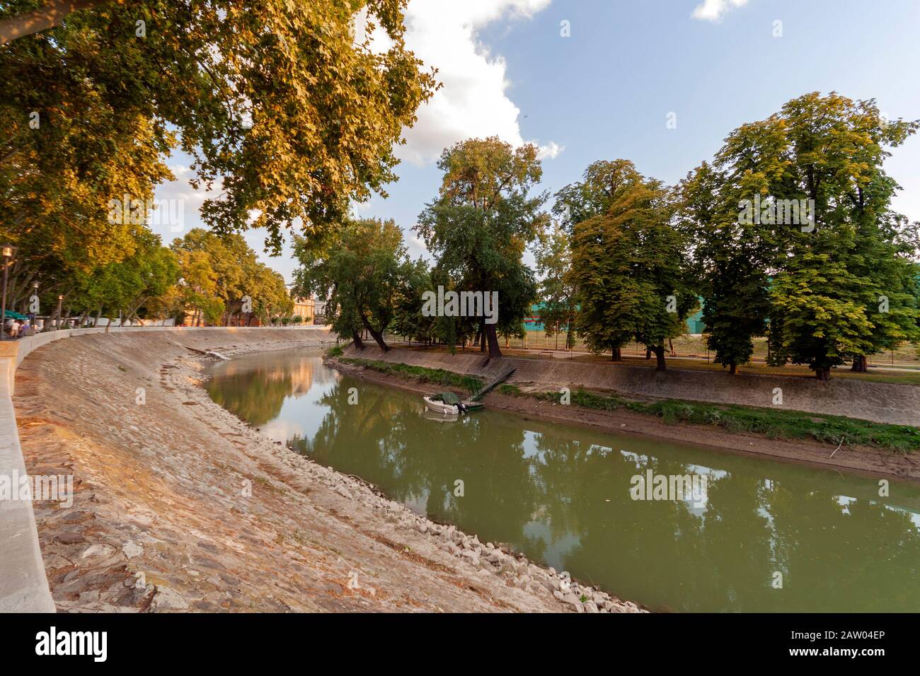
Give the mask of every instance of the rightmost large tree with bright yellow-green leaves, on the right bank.
<svg viewBox="0 0 920 676">
<path fill-rule="evenodd" d="M 916 337 L 916 239 L 891 212 L 898 186 L 882 166 L 886 147 L 916 128 L 882 120 L 872 100 L 812 93 L 730 135 L 719 162 L 732 182 L 768 204 L 813 205 L 811 222 L 772 225 L 774 363 L 806 363 L 824 380 L 847 359 L 864 369 L 866 355 Z"/>
</svg>

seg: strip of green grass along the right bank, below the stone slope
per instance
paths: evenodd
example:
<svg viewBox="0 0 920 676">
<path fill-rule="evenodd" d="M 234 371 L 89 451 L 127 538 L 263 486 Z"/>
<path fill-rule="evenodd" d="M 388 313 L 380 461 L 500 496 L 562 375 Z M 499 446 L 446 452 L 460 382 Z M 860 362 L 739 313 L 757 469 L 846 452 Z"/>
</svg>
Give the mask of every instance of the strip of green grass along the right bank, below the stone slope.
<svg viewBox="0 0 920 676">
<path fill-rule="evenodd" d="M 558 392 L 543 392 L 534 396 L 558 403 L 562 395 Z M 570 396 L 570 403 L 574 406 L 603 411 L 622 408 L 657 416 L 669 424 L 684 422 L 714 425 L 730 432 L 763 434 L 770 439 L 813 439 L 834 445 L 843 440 L 851 446 L 875 446 L 901 453 L 920 450 L 920 429 L 908 425 L 886 425 L 803 411 L 707 404 L 679 399 L 644 403 L 616 395 L 596 395 L 582 389 L 575 390 Z"/>
</svg>

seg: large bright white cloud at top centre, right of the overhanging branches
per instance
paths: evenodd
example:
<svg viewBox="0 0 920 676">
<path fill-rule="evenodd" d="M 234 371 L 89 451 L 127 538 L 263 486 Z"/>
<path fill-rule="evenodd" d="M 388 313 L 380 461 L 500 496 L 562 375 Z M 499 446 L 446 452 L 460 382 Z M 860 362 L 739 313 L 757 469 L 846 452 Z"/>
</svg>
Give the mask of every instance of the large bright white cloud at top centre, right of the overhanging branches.
<svg viewBox="0 0 920 676">
<path fill-rule="evenodd" d="M 503 18 L 527 19 L 551 0 L 409 0 L 408 48 L 438 69 L 443 87 L 419 110 L 397 155 L 415 165 L 436 160 L 443 149 L 471 137 L 499 136 L 512 145 L 524 142 L 521 110 L 507 95 L 507 64 L 477 39 L 477 30 Z M 536 143 L 536 142 L 531 142 Z M 544 157 L 557 156 L 558 143 L 536 143 Z"/>
</svg>

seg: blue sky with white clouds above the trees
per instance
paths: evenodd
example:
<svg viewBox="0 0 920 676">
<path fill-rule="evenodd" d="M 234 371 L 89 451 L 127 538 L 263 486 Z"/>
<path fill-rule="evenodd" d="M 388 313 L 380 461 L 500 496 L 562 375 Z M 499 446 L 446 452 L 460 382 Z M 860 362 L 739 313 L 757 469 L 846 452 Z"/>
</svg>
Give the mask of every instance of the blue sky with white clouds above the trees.
<svg viewBox="0 0 920 676">
<path fill-rule="evenodd" d="M 412 226 L 437 194 L 437 158 L 466 138 L 535 143 L 539 189 L 552 194 L 600 159 L 676 183 L 732 130 L 807 92 L 920 119 L 916 0 L 409 0 L 406 18 L 409 49 L 443 88 L 405 132 L 389 197 L 355 213 L 395 219 L 413 258 L 427 255 Z M 886 170 L 903 187 L 893 206 L 920 221 L 920 137 L 891 153 Z M 183 217 L 154 227 L 165 243 L 202 226 L 204 200 L 187 183 L 188 156 L 167 164 L 177 181 L 156 197 L 183 200 Z M 264 233 L 245 236 L 291 281 L 290 248 L 271 258 Z"/>
</svg>

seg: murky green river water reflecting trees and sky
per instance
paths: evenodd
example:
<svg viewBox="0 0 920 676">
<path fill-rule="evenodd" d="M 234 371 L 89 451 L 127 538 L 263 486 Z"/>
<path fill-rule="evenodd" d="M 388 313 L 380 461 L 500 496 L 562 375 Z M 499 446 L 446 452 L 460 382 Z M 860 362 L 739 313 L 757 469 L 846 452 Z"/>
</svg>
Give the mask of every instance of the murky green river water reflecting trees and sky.
<svg viewBox="0 0 920 676">
<path fill-rule="evenodd" d="M 652 610 L 920 611 L 920 487 L 880 498 L 872 477 L 488 409 L 444 420 L 317 352 L 211 373 L 215 402 L 294 452 Z M 705 493 L 634 499 L 649 470 Z"/>
</svg>

